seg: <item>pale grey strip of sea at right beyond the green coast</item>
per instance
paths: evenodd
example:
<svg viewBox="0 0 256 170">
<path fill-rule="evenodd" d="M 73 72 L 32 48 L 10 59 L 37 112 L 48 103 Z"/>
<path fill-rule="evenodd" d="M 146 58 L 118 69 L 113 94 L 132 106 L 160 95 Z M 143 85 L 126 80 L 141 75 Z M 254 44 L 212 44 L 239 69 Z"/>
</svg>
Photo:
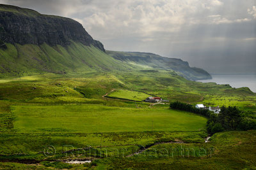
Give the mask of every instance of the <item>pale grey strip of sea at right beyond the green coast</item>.
<svg viewBox="0 0 256 170">
<path fill-rule="evenodd" d="M 211 80 L 198 80 L 202 83 L 214 82 L 219 85 L 229 84 L 231 87 L 248 87 L 256 93 L 256 74 L 212 74 Z"/>
</svg>

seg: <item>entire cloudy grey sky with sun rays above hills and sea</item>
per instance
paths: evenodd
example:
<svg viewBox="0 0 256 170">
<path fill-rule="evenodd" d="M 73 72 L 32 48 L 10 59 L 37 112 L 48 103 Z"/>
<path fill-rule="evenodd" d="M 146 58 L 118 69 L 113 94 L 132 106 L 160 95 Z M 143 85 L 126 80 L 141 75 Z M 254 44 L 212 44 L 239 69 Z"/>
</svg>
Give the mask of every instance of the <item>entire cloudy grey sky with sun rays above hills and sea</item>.
<svg viewBox="0 0 256 170">
<path fill-rule="evenodd" d="M 0 0 L 73 18 L 107 50 L 174 57 L 212 74 L 256 74 L 256 0 Z"/>
</svg>

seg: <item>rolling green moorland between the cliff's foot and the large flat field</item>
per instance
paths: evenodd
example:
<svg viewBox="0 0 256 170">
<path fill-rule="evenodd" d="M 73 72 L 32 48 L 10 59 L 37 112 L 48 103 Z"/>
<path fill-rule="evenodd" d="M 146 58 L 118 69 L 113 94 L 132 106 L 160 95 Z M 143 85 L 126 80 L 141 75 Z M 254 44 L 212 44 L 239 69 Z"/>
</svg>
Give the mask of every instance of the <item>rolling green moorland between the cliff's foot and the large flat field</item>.
<svg viewBox="0 0 256 170">
<path fill-rule="evenodd" d="M 249 89 L 188 81 L 172 71 L 38 74 L 2 79 L 0 85 L 0 99 L 29 103 L 104 103 L 106 100 L 102 100 L 102 96 L 116 89 L 119 92 L 113 95 L 120 98 L 130 99 L 137 94 L 131 90 L 140 90 L 170 101 L 204 103 L 207 106 L 238 106 L 243 110 L 256 110 L 256 95 Z"/>
</svg>

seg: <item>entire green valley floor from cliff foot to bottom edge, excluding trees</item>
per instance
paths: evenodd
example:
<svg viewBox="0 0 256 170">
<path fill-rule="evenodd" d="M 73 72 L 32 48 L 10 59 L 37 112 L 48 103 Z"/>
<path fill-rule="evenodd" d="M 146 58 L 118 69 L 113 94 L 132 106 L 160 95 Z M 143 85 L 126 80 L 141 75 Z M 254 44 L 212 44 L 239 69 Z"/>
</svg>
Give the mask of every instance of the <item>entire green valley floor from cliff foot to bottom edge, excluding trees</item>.
<svg viewBox="0 0 256 170">
<path fill-rule="evenodd" d="M 0 168 L 256 167 L 256 131 L 221 132 L 205 143 L 206 118 L 168 104 L 150 106 L 143 102 L 150 95 L 256 110 L 256 95 L 248 89 L 188 81 L 168 71 L 8 78 L 0 81 Z"/>
</svg>

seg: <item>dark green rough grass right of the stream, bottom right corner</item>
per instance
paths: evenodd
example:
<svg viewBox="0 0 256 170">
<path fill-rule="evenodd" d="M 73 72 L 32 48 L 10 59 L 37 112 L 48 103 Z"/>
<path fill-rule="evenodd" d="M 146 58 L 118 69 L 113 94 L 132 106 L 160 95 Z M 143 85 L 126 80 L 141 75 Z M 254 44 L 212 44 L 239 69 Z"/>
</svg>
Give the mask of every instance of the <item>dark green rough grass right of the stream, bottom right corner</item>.
<svg viewBox="0 0 256 170">
<path fill-rule="evenodd" d="M 163 144 L 129 159 L 109 159 L 102 161 L 102 164 L 113 169 L 255 169 L 255 141 L 256 131 L 221 132 L 214 134 L 210 143 L 182 145 L 183 150 L 180 149 L 173 157 L 172 152 L 168 154 L 168 151 L 179 148 L 180 145 Z M 213 148 L 214 152 L 205 155 L 203 149 L 207 151 L 210 148 Z M 193 152 L 184 155 L 186 150 L 202 150 L 201 156 L 197 153 L 194 157 Z"/>
</svg>

